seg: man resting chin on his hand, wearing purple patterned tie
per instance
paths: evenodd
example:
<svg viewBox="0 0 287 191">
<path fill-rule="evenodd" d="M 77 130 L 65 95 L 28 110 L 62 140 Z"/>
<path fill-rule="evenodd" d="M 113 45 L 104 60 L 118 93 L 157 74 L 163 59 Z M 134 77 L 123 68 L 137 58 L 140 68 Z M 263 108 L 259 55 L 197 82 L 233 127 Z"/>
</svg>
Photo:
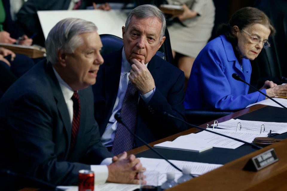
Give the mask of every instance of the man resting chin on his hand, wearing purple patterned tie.
<svg viewBox="0 0 287 191">
<path fill-rule="evenodd" d="M 95 118 L 103 144 L 113 154 L 142 143 L 115 120 L 123 121 L 146 142 L 186 130 L 182 122 L 163 112 L 184 117 L 184 74 L 155 53 L 165 40 L 164 14 L 153 5 L 141 5 L 129 14 L 123 48 L 104 56 L 93 85 Z"/>
</svg>

